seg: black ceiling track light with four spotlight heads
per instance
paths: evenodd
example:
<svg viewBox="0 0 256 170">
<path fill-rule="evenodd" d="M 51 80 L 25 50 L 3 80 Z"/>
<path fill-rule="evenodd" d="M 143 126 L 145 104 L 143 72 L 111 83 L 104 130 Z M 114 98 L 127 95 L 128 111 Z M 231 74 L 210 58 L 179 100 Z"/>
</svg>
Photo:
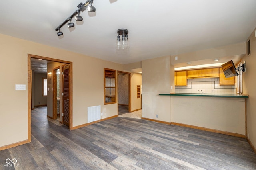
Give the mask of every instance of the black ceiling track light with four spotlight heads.
<svg viewBox="0 0 256 170">
<path fill-rule="evenodd" d="M 62 32 L 60 32 L 60 28 L 63 27 L 66 23 L 68 23 L 68 21 L 70 23 L 68 23 L 68 27 L 71 28 L 71 27 L 74 27 L 75 24 L 71 22 L 71 19 L 75 17 L 76 21 L 82 21 L 83 18 L 80 16 L 80 12 L 84 11 L 84 10 L 88 10 L 90 12 L 95 12 L 96 9 L 94 6 L 92 6 L 92 3 L 93 3 L 94 0 L 87 0 L 84 4 L 81 2 L 80 4 L 78 4 L 78 10 L 76 10 L 71 16 L 69 16 L 64 22 L 62 22 L 56 29 L 55 31 L 59 31 L 57 32 L 57 35 L 60 36 L 60 35 L 63 35 Z M 89 6 L 90 4 L 90 6 Z M 78 14 L 78 16 L 76 16 Z"/>
</svg>

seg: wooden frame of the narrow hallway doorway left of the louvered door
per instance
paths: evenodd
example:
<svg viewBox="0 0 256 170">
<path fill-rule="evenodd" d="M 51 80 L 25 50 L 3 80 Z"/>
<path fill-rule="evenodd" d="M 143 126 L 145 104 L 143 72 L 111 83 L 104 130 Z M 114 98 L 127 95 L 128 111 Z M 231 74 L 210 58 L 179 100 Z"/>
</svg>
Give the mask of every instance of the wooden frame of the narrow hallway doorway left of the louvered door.
<svg viewBox="0 0 256 170">
<path fill-rule="evenodd" d="M 57 70 L 60 69 L 60 66 L 58 67 L 55 67 L 55 68 L 52 68 L 52 72 L 53 72 L 53 76 L 52 76 L 52 82 L 53 82 L 53 98 L 52 98 L 52 117 L 53 119 L 57 119 L 57 98 L 56 98 L 56 95 L 57 95 Z M 60 121 L 60 120 L 59 120 Z M 61 122 L 61 121 L 60 121 Z"/>
</svg>

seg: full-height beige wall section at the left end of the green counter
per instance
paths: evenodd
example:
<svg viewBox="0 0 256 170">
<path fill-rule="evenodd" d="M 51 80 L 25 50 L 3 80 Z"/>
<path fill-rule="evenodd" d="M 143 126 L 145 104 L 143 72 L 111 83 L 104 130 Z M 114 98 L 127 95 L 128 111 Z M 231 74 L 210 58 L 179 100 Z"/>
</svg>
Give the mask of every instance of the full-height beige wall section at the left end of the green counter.
<svg viewBox="0 0 256 170">
<path fill-rule="evenodd" d="M 142 61 L 142 117 L 170 122 L 170 96 L 160 93 L 170 93 L 170 56 Z"/>
</svg>

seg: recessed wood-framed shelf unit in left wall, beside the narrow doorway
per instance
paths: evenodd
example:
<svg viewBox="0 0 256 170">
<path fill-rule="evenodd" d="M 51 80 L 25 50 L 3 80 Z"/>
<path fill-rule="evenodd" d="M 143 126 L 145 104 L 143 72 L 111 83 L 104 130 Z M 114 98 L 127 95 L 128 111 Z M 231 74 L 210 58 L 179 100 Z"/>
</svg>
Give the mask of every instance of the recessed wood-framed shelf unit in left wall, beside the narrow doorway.
<svg viewBox="0 0 256 170">
<path fill-rule="evenodd" d="M 104 104 L 116 103 L 116 70 L 104 68 Z"/>
</svg>

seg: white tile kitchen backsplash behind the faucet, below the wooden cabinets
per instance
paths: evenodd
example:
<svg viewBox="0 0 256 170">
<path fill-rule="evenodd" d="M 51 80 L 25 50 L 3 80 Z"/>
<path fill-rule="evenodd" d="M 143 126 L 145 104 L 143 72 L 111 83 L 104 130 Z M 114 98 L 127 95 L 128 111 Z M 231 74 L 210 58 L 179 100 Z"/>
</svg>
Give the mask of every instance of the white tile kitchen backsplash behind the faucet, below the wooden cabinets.
<svg viewBox="0 0 256 170">
<path fill-rule="evenodd" d="M 220 86 L 220 78 L 187 79 L 187 86 L 175 86 L 175 93 L 236 94 L 234 86 Z"/>
</svg>

